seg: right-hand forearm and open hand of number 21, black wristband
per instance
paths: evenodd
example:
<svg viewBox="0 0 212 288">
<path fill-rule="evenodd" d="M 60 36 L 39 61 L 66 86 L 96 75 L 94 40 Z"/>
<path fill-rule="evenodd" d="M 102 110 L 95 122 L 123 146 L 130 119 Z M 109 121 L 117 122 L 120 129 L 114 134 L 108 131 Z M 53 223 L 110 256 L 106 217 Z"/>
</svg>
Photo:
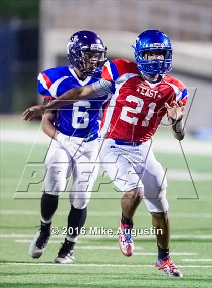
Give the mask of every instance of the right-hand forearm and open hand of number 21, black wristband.
<svg viewBox="0 0 212 288">
<path fill-rule="evenodd" d="M 173 101 L 173 106 L 170 107 L 168 103 L 165 103 L 165 107 L 167 108 L 168 119 L 171 126 L 172 133 L 174 137 L 181 141 L 185 136 L 185 125 L 183 121 L 183 113 L 184 105 L 181 101 L 176 102 Z"/>
</svg>

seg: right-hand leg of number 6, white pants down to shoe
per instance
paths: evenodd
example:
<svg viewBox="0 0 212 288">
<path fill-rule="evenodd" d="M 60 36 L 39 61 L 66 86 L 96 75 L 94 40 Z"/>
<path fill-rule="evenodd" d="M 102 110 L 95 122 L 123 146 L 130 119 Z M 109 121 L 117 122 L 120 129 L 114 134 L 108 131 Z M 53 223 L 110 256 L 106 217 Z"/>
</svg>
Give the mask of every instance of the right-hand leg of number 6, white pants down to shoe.
<svg viewBox="0 0 212 288">
<path fill-rule="evenodd" d="M 99 164 L 96 164 L 97 157 L 98 142 L 94 140 L 87 142 L 82 155 L 75 158 L 72 170 L 73 183 L 70 191 L 71 208 L 68 215 L 68 234 L 55 260 L 56 263 L 67 264 L 74 261 L 74 245 L 84 226 L 87 204 L 99 170 Z"/>
</svg>

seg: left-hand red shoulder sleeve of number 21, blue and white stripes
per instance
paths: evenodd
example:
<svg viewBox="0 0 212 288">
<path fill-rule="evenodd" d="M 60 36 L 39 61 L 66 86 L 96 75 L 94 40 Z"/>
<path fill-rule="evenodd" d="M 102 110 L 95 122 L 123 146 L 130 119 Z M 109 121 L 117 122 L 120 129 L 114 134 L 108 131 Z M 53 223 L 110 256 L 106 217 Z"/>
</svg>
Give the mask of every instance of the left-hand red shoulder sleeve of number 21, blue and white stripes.
<svg viewBox="0 0 212 288">
<path fill-rule="evenodd" d="M 137 65 L 126 59 L 108 60 L 102 70 L 101 77 L 105 80 L 116 82 L 127 73 L 139 74 Z"/>
</svg>

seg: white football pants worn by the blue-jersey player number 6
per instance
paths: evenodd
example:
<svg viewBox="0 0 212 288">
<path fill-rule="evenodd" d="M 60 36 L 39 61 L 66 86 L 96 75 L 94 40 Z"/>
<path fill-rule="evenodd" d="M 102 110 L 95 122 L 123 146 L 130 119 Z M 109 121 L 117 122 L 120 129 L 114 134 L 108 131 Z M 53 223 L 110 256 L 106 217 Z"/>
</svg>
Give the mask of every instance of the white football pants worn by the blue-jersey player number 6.
<svg viewBox="0 0 212 288">
<path fill-rule="evenodd" d="M 82 138 L 74 138 L 76 144 L 82 143 Z M 45 193 L 59 195 L 61 192 L 65 192 L 69 187 L 67 177 L 72 173 L 72 187 L 69 191 L 70 203 L 75 208 L 85 208 L 99 170 L 98 146 L 98 140 L 95 139 L 83 142 L 82 148 L 77 153 L 74 150 L 73 153 L 70 153 L 61 143 L 52 140 L 45 160 Z"/>
</svg>

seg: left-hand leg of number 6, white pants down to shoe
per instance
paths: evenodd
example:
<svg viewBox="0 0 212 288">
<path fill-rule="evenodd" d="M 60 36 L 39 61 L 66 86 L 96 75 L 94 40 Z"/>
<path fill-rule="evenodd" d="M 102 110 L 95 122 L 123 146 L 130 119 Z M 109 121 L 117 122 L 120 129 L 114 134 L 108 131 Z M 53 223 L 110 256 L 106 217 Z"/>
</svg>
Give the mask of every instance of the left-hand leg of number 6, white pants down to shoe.
<svg viewBox="0 0 212 288">
<path fill-rule="evenodd" d="M 39 258 L 50 238 L 51 219 L 58 207 L 60 192 L 65 190 L 69 157 L 60 143 L 53 140 L 48 150 L 45 167 L 44 193 L 41 198 L 41 225 L 35 235 L 29 253 L 33 258 Z"/>
</svg>

